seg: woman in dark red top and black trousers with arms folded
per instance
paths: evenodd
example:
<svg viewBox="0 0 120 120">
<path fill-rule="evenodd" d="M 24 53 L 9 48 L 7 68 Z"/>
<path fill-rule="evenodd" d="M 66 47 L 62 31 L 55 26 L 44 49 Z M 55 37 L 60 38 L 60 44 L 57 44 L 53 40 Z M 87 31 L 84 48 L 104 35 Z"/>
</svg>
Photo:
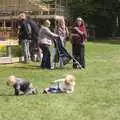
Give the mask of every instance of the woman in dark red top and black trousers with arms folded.
<svg viewBox="0 0 120 120">
<path fill-rule="evenodd" d="M 85 68 L 85 42 L 87 41 L 87 31 L 82 18 L 77 18 L 75 26 L 72 28 L 72 54 Z M 77 68 L 76 62 L 73 60 L 73 68 Z"/>
</svg>

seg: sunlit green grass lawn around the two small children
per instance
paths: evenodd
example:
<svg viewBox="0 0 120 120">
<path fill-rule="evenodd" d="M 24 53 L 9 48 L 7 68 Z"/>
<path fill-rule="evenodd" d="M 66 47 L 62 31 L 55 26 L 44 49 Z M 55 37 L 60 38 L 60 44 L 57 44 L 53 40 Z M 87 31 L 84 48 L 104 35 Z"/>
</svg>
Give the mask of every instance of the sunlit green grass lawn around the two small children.
<svg viewBox="0 0 120 120">
<path fill-rule="evenodd" d="M 120 44 L 88 42 L 86 63 L 85 70 L 69 64 L 53 71 L 39 69 L 38 63 L 0 65 L 0 120 L 120 120 Z M 12 96 L 6 86 L 11 74 L 40 91 L 66 74 L 74 74 L 77 84 L 73 94 Z"/>
</svg>

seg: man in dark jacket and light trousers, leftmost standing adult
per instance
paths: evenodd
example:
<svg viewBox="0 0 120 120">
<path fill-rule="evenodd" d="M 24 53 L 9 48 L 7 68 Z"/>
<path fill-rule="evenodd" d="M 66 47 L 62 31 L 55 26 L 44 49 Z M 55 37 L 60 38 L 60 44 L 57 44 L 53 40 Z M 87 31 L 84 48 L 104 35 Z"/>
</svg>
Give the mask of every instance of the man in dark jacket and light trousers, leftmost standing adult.
<svg viewBox="0 0 120 120">
<path fill-rule="evenodd" d="M 29 44 L 31 41 L 31 26 L 27 21 L 25 13 L 19 15 L 19 44 L 21 45 L 22 57 L 24 62 L 30 61 Z"/>
</svg>

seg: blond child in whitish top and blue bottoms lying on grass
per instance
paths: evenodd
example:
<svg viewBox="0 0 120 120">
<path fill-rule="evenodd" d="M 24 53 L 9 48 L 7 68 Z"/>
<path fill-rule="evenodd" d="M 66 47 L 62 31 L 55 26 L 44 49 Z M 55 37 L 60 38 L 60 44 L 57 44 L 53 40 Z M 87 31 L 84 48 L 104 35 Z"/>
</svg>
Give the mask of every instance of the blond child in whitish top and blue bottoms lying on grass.
<svg viewBox="0 0 120 120">
<path fill-rule="evenodd" d="M 67 75 L 62 79 L 55 80 L 50 87 L 45 88 L 43 93 L 73 93 L 75 87 L 75 77 Z"/>
</svg>

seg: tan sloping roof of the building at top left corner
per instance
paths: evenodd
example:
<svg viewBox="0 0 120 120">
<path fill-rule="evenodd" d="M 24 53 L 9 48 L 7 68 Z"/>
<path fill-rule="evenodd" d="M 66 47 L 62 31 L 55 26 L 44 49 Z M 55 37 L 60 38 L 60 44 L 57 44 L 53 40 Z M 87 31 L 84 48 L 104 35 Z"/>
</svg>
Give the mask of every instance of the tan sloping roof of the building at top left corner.
<svg viewBox="0 0 120 120">
<path fill-rule="evenodd" d="M 0 0 L 0 11 L 47 10 L 40 0 Z"/>
</svg>

